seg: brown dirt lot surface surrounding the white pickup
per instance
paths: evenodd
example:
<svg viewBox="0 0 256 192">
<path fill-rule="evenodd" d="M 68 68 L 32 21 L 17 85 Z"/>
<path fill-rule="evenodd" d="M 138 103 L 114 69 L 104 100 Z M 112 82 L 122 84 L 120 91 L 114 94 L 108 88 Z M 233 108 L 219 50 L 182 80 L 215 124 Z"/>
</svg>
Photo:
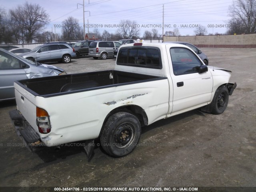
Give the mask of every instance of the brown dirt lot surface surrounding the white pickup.
<svg viewBox="0 0 256 192">
<path fill-rule="evenodd" d="M 256 186 L 256 49 L 204 48 L 210 65 L 232 70 L 237 88 L 226 111 L 193 110 L 142 128 L 139 146 L 122 158 L 98 147 L 29 152 L 0 103 L 0 186 Z M 68 73 L 114 68 L 114 59 L 54 64 Z"/>
</svg>

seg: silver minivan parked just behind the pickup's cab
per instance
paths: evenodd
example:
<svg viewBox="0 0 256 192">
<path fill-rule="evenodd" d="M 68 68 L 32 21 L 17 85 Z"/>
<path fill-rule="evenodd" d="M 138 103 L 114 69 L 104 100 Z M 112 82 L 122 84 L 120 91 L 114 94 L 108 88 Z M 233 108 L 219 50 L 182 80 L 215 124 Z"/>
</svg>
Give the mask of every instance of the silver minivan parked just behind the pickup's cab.
<svg viewBox="0 0 256 192">
<path fill-rule="evenodd" d="M 120 43 L 114 41 L 94 41 L 89 46 L 89 56 L 94 59 L 114 57 L 114 50 L 118 50 L 120 46 Z"/>
</svg>

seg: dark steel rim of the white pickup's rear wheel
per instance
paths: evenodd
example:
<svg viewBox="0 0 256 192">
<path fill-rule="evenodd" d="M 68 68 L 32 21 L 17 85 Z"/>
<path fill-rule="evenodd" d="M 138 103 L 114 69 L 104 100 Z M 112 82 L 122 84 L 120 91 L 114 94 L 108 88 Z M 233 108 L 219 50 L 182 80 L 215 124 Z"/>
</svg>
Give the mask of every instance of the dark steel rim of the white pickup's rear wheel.
<svg viewBox="0 0 256 192">
<path fill-rule="evenodd" d="M 118 148 L 130 146 L 135 137 L 135 128 L 130 123 L 120 125 L 114 133 L 114 145 Z"/>
</svg>

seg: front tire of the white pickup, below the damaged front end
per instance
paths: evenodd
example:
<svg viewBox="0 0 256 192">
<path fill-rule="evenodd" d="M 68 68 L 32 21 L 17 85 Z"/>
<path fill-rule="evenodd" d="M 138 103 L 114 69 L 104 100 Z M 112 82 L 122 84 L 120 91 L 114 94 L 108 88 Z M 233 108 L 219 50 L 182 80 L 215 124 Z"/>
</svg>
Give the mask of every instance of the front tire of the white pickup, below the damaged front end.
<svg viewBox="0 0 256 192">
<path fill-rule="evenodd" d="M 220 86 L 213 97 L 210 104 L 212 114 L 222 114 L 228 106 L 228 88 Z"/>
</svg>

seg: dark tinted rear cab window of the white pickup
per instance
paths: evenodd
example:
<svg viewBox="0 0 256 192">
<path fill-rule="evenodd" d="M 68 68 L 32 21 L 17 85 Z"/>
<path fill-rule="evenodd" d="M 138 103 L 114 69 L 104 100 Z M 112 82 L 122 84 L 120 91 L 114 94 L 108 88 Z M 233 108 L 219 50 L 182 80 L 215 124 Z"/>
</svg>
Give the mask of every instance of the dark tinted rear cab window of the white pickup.
<svg viewBox="0 0 256 192">
<path fill-rule="evenodd" d="M 118 52 L 116 64 L 162 69 L 160 50 L 153 47 L 121 48 Z"/>
</svg>

